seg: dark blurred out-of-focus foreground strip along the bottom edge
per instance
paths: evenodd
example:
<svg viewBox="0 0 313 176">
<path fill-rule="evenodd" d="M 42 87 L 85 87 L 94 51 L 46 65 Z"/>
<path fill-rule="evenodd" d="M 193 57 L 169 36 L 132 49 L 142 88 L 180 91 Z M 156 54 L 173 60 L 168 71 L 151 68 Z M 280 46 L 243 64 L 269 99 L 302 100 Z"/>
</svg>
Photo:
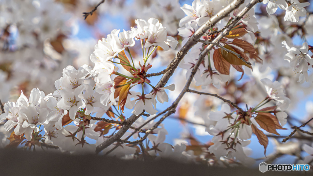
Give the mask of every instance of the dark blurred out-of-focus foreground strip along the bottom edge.
<svg viewBox="0 0 313 176">
<path fill-rule="evenodd" d="M 219 168 L 206 167 L 199 164 L 179 163 L 168 159 L 156 161 L 121 160 L 97 155 L 69 155 L 52 152 L 31 152 L 12 149 L 0 150 L 0 166 L 3 176 L 23 175 L 103 175 L 103 176 L 184 176 L 184 175 L 311 175 L 300 172 L 273 172 L 261 173 L 251 168 Z"/>
</svg>

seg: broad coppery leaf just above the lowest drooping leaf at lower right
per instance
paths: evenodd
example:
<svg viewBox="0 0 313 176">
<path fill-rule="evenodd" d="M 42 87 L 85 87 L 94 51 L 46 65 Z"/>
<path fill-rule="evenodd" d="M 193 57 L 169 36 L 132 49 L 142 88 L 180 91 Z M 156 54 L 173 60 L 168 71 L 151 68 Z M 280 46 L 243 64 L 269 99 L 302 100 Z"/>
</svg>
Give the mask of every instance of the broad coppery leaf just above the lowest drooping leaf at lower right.
<svg viewBox="0 0 313 176">
<path fill-rule="evenodd" d="M 269 133 L 274 133 L 274 134 L 280 135 L 276 131 L 276 124 L 275 124 L 274 120 L 272 118 L 270 118 L 269 116 L 264 115 L 262 113 L 261 114 L 258 113 L 255 120 L 260 125 L 260 127 L 263 128 L 265 131 L 267 131 Z"/>
</svg>

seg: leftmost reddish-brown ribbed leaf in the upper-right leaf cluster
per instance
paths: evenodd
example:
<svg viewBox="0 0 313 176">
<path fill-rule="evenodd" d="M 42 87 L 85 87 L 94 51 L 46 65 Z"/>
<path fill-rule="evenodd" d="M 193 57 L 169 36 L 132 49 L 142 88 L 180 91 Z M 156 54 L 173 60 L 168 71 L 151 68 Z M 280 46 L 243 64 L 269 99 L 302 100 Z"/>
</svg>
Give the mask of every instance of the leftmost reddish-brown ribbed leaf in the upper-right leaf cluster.
<svg viewBox="0 0 313 176">
<path fill-rule="evenodd" d="M 218 48 L 213 53 L 213 62 L 215 69 L 221 73 L 229 75 L 230 63 L 228 63 L 222 56 L 222 49 Z"/>
</svg>

